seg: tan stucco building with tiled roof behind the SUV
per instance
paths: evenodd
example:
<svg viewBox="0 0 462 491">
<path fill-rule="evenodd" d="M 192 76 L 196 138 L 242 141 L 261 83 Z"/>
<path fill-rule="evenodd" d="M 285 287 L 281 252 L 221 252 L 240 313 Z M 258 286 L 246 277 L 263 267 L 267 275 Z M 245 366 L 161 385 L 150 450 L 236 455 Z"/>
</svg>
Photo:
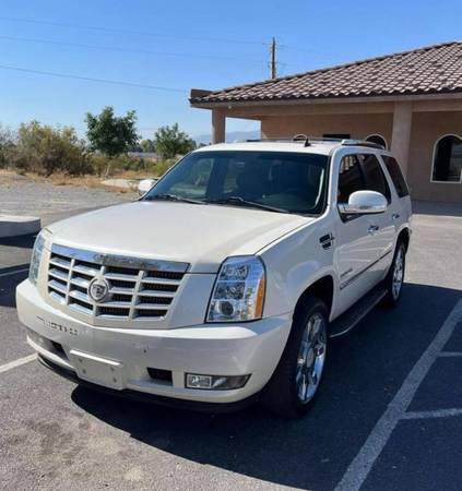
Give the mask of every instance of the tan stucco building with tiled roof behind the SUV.
<svg viewBox="0 0 462 491">
<path fill-rule="evenodd" d="M 220 91 L 191 89 L 226 118 L 261 121 L 262 137 L 366 139 L 398 157 L 414 199 L 462 202 L 462 41 L 418 48 Z"/>
</svg>

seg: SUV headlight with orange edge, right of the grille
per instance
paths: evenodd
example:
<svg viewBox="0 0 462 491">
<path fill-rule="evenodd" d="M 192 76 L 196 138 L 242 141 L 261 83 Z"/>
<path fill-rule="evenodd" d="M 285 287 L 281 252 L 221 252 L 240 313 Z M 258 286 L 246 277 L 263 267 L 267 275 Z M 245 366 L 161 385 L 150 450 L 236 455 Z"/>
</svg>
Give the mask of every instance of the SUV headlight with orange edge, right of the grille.
<svg viewBox="0 0 462 491">
<path fill-rule="evenodd" d="M 210 299 L 208 322 L 239 322 L 261 319 L 265 272 L 257 256 L 228 258 L 216 278 Z"/>
</svg>

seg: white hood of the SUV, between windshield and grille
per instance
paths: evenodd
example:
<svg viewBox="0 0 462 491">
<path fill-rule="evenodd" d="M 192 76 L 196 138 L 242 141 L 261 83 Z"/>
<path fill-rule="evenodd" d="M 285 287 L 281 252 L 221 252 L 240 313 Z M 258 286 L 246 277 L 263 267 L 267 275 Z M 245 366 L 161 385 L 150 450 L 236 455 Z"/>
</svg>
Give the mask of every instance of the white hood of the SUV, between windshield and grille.
<svg viewBox="0 0 462 491">
<path fill-rule="evenodd" d="M 47 227 L 52 242 L 95 252 L 180 261 L 216 273 L 229 255 L 254 254 L 312 218 L 244 207 L 134 202 Z"/>
</svg>

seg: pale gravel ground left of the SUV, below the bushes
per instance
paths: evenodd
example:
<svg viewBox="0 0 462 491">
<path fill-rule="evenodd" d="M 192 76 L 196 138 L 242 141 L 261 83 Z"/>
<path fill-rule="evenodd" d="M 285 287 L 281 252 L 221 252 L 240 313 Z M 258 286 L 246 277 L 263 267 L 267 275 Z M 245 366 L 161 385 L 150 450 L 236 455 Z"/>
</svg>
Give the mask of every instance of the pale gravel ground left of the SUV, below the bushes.
<svg viewBox="0 0 462 491">
<path fill-rule="evenodd" d="M 0 214 L 48 216 L 73 209 L 97 208 L 134 200 L 137 193 L 57 185 L 25 176 L 0 175 Z"/>
</svg>

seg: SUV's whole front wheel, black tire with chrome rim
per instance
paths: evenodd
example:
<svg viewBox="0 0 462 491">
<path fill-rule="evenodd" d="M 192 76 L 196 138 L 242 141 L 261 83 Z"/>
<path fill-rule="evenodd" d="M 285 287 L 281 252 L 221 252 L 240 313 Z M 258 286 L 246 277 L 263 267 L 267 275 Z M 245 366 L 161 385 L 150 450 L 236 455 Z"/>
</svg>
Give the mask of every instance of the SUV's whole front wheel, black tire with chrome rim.
<svg viewBox="0 0 462 491">
<path fill-rule="evenodd" d="M 262 391 L 263 406 L 283 418 L 304 416 L 318 395 L 327 356 L 328 311 L 320 299 L 308 297 L 294 316 L 281 360 Z"/>
</svg>

